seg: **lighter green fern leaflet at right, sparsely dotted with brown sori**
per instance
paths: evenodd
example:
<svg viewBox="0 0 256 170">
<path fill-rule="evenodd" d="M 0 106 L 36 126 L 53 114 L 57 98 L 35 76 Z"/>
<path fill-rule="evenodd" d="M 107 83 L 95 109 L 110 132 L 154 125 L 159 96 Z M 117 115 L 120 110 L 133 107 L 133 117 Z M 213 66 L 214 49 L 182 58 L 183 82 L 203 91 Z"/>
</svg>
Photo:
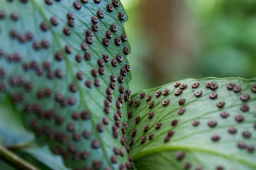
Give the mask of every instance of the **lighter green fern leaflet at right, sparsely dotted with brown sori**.
<svg viewBox="0 0 256 170">
<path fill-rule="evenodd" d="M 256 169 L 256 79 L 186 79 L 132 96 L 138 169 Z"/>
</svg>

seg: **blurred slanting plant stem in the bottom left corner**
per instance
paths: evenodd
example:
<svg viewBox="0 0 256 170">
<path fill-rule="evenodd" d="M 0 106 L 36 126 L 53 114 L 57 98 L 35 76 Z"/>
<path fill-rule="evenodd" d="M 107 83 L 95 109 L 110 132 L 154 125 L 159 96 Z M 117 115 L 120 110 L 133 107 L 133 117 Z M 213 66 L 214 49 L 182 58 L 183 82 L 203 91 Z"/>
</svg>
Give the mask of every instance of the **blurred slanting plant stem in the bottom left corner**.
<svg viewBox="0 0 256 170">
<path fill-rule="evenodd" d="M 26 160 L 18 157 L 15 155 L 15 153 L 10 152 L 6 148 L 0 145 L 0 157 L 12 164 L 15 167 L 18 167 L 19 169 L 24 170 L 39 170 L 37 167 L 29 164 L 29 162 L 26 162 Z"/>
</svg>

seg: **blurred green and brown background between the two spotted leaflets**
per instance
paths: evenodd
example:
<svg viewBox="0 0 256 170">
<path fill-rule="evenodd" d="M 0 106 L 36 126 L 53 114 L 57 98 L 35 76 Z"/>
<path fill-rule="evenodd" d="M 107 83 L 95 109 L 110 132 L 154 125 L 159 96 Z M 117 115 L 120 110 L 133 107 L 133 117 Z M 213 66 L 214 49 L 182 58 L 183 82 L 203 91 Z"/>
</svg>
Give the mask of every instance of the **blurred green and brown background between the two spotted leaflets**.
<svg viewBox="0 0 256 170">
<path fill-rule="evenodd" d="M 121 0 L 131 90 L 206 76 L 256 76 L 255 0 Z"/>
</svg>

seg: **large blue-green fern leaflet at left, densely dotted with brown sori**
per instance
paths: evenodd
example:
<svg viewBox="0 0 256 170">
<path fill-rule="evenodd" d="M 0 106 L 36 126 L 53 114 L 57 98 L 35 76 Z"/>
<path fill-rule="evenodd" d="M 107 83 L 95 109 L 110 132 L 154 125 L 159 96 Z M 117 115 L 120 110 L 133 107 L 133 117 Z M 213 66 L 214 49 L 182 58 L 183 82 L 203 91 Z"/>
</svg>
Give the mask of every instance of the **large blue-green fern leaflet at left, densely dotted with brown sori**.
<svg viewBox="0 0 256 170">
<path fill-rule="evenodd" d="M 72 169 L 132 169 L 118 0 L 1 0 L 0 100 Z"/>
</svg>

